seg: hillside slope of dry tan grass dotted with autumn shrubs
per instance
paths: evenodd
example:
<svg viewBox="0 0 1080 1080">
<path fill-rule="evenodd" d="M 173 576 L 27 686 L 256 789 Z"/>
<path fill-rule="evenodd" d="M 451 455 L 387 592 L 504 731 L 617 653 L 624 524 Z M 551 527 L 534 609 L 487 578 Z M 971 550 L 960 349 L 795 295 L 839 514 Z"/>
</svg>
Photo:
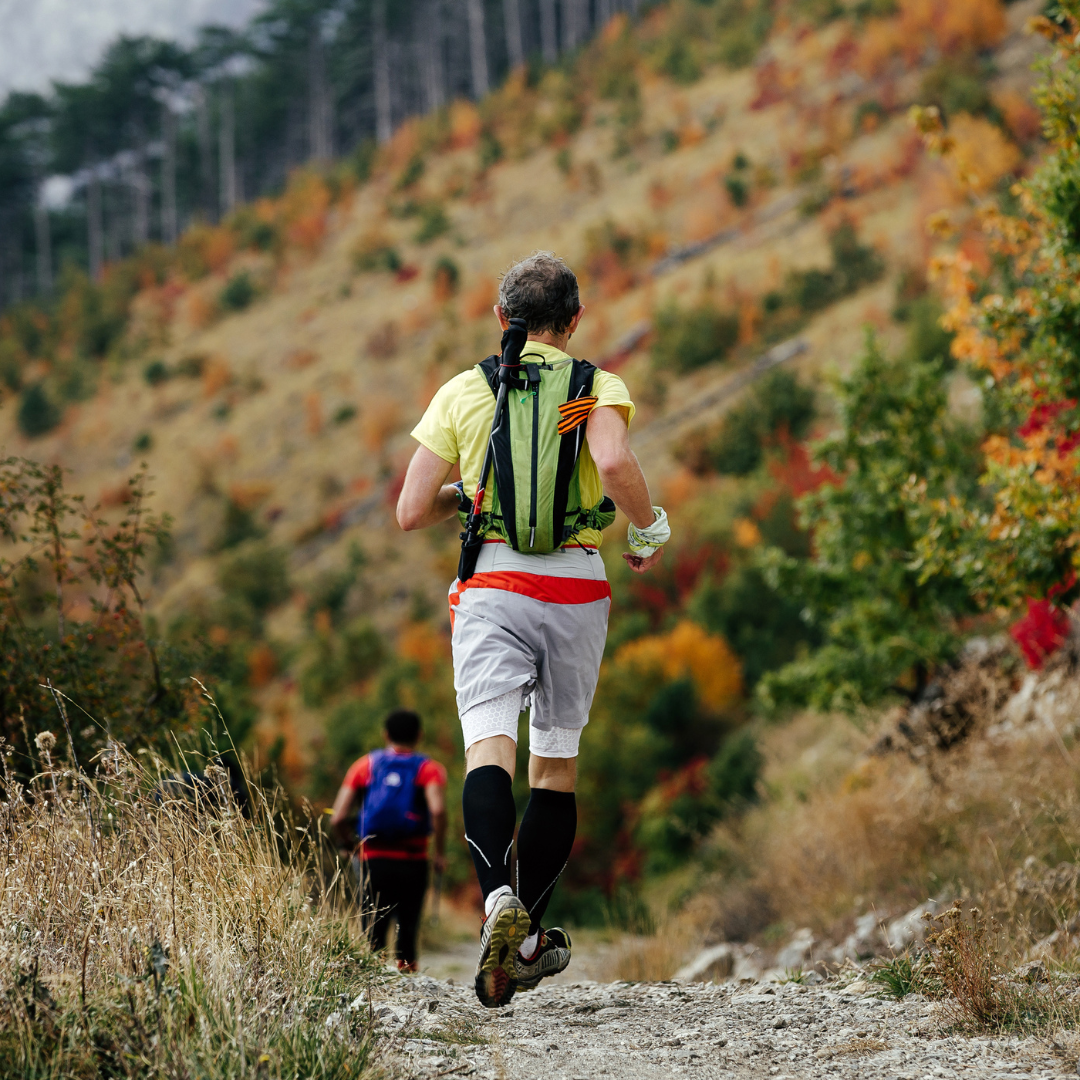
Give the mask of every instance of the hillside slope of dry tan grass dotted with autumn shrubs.
<svg viewBox="0 0 1080 1080">
<path fill-rule="evenodd" d="M 967 24 L 960 9 L 971 10 Z M 964 114 L 955 125 L 986 190 L 1022 167 L 1034 134 L 1024 94 L 1036 45 L 1023 26 L 1038 9 L 1038 0 L 950 9 L 971 48 L 994 44 L 983 54 L 994 66 L 984 90 L 999 122 Z M 635 32 L 649 42 L 674 35 L 685 11 L 660 9 Z M 597 94 L 575 106 L 580 125 L 556 125 L 539 148 L 515 146 L 505 134 L 515 110 L 543 120 L 552 99 L 538 105 L 523 75 L 480 110 L 453 106 L 437 122 L 449 132 L 438 147 L 435 120 L 400 130 L 366 184 L 299 177 L 283 198 L 300 207 L 301 224 L 314 224 L 294 229 L 284 255 L 227 244 L 207 276 L 149 285 L 136 300 L 127 359 L 33 440 L 19 430 L 17 399 L 6 397 L 0 445 L 63 464 L 76 489 L 106 504 L 123 499 L 126 477 L 147 462 L 153 502 L 175 522 L 151 590 L 165 623 L 204 610 L 204 630 L 227 640 L 213 615 L 222 567 L 256 537 L 287 552 L 292 598 L 269 613 L 272 654 L 251 647 L 251 681 L 261 742 L 284 745 L 282 764 L 300 783 L 327 711 L 340 703 L 301 685 L 315 638 L 337 625 L 328 615 L 320 622 L 320 591 L 350 558 L 360 564 L 350 555 L 356 545 L 363 569 L 359 586 L 345 586 L 347 615 L 369 621 L 384 648 L 429 674 L 445 662 L 442 597 L 457 529 L 402 535 L 392 507 L 424 405 L 497 347 L 490 306 L 515 258 L 553 249 L 580 272 L 588 313 L 573 349 L 617 368 L 639 403 L 634 445 L 677 532 L 700 531 L 716 507 L 727 508 L 729 531 L 739 516 L 732 482 L 691 472 L 680 447 L 738 400 L 740 373 L 756 359 L 796 342 L 773 357 L 823 391 L 827 423 L 824 376 L 850 362 L 864 327 L 901 340 L 891 313 L 899 284 L 918 278 L 931 254 L 927 219 L 966 198 L 955 166 L 927 157 L 905 117 L 950 63 L 930 38 L 914 52 L 905 44 L 906 11 L 819 28 L 779 19 L 753 66 L 707 67 L 685 84 L 620 53 L 633 35 L 616 21 L 579 64 L 636 71 L 630 121 L 617 92 Z M 986 12 L 1003 19 L 993 32 L 980 22 Z M 491 130 L 501 135 L 496 151 Z M 831 238 L 845 222 L 883 259 L 883 275 L 774 318 L 781 301 L 770 297 L 793 273 L 827 270 L 838 251 L 834 243 L 831 256 Z M 974 239 L 961 233 L 959 242 L 978 256 Z M 254 300 L 228 299 L 238 287 Z M 225 313 L 230 306 L 243 310 Z M 726 357 L 685 372 L 658 366 L 664 313 L 698 308 L 734 321 Z M 48 375 L 40 362 L 28 379 Z M 966 394 L 960 380 L 958 407 Z M 618 524 L 609 532 L 609 565 L 621 534 Z M 445 666 L 437 671 L 445 679 Z M 347 678 L 341 692 L 363 690 L 365 678 Z M 456 735 L 445 738 L 451 746 Z"/>
</svg>

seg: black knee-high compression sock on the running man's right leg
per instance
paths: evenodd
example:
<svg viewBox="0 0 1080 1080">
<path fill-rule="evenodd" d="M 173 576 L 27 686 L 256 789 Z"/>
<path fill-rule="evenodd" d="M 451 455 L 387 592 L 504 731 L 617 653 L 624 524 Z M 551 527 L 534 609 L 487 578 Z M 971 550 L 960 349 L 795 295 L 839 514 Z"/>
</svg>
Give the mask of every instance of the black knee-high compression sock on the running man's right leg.
<svg viewBox="0 0 1080 1080">
<path fill-rule="evenodd" d="M 570 858 L 577 831 L 573 792 L 532 788 L 517 831 L 517 899 L 532 920 L 530 934 L 540 928 L 555 882 Z"/>
</svg>

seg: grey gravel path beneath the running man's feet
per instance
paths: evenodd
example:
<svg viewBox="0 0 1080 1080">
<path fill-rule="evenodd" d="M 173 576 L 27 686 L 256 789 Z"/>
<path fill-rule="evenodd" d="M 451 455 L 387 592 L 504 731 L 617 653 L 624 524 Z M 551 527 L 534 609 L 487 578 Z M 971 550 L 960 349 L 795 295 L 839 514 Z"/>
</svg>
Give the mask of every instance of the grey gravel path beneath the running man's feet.
<svg viewBox="0 0 1080 1080">
<path fill-rule="evenodd" d="M 1077 1076 L 1075 1055 L 1045 1040 L 946 1037 L 918 995 L 836 986 L 564 983 L 489 1011 L 470 984 L 419 975 L 353 1007 L 376 1017 L 394 1080 Z"/>
</svg>

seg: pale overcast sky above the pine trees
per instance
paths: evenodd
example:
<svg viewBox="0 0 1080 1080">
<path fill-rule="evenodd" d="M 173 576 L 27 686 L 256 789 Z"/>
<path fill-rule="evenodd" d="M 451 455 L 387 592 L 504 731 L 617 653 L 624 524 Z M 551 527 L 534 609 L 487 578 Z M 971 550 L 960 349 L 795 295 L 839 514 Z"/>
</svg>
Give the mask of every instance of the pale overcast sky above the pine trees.
<svg viewBox="0 0 1080 1080">
<path fill-rule="evenodd" d="M 206 23 L 238 25 L 260 0 L 0 0 L 0 94 L 82 79 L 121 33 L 191 39 Z"/>
</svg>

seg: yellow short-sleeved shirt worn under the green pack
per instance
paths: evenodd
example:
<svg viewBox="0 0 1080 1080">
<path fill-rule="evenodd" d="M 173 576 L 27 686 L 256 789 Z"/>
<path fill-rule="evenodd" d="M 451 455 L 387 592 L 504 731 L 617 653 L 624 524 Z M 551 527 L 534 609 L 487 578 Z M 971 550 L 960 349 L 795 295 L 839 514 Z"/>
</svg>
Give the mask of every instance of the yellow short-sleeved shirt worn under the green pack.
<svg viewBox="0 0 1080 1080">
<path fill-rule="evenodd" d="M 539 353 L 549 364 L 567 359 L 565 352 L 541 341 L 528 341 L 523 355 L 525 353 Z M 622 411 L 627 426 L 630 424 L 634 416 L 634 403 L 630 400 L 626 384 L 618 375 L 597 369 L 593 377 L 593 393 L 596 395 L 596 407 L 613 405 Z M 465 495 L 472 498 L 476 491 L 494 419 L 495 394 L 484 376 L 475 367 L 470 367 L 468 372 L 456 375 L 432 397 L 420 422 L 413 429 L 413 437 L 444 461 L 460 464 Z M 581 448 L 578 469 L 581 504 L 594 507 L 604 498 L 604 485 L 593 456 L 589 453 L 588 440 Z M 484 499 L 485 510 L 491 509 L 494 486 L 491 483 L 488 485 Z M 576 540 L 580 544 L 598 548 L 602 537 L 596 529 L 582 529 Z"/>
</svg>

